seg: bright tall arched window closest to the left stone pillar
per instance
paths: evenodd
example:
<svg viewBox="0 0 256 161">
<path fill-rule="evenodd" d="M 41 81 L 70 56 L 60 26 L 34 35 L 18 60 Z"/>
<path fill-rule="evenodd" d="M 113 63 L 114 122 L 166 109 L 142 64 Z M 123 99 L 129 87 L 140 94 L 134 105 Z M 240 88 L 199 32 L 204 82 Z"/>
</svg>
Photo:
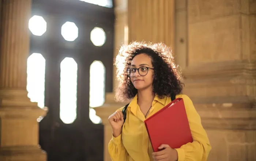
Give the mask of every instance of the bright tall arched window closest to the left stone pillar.
<svg viewBox="0 0 256 161">
<path fill-rule="evenodd" d="M 27 59 L 27 91 L 31 102 L 43 108 L 45 102 L 45 58 L 33 53 Z"/>
</svg>

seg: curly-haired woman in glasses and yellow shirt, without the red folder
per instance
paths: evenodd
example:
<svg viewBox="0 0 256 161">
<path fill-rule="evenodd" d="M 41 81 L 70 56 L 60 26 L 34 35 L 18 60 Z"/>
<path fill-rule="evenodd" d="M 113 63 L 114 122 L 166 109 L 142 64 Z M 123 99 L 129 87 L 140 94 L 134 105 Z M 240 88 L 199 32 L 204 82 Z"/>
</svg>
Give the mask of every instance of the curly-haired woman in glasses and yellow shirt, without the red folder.
<svg viewBox="0 0 256 161">
<path fill-rule="evenodd" d="M 124 107 L 109 116 L 112 161 L 206 161 L 211 145 L 192 101 L 181 94 L 181 77 L 172 50 L 163 43 L 132 42 L 121 47 L 115 65 L 120 82 L 116 99 L 131 102 L 125 122 Z M 153 152 L 143 121 L 169 104 L 171 93 L 184 100 L 193 142 L 177 149 L 162 144 L 161 151 Z"/>
</svg>

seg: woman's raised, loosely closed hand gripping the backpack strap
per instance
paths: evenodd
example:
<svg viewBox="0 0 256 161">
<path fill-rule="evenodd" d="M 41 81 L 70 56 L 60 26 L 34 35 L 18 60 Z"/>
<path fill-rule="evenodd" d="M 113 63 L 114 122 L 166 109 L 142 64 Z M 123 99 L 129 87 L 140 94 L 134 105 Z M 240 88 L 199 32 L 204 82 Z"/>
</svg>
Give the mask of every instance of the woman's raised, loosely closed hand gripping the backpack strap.
<svg viewBox="0 0 256 161">
<path fill-rule="evenodd" d="M 122 132 L 122 126 L 124 124 L 124 115 L 122 111 L 116 111 L 109 116 L 109 123 L 113 129 L 113 136 L 118 137 Z"/>
</svg>

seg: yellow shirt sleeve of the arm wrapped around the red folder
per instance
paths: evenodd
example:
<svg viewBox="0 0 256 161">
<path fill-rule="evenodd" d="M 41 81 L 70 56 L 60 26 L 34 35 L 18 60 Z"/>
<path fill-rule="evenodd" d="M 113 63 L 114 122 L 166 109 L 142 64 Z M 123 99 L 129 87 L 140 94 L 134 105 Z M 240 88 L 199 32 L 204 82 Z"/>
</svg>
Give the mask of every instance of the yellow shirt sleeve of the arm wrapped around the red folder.
<svg viewBox="0 0 256 161">
<path fill-rule="evenodd" d="M 181 97 L 184 100 L 193 142 L 176 149 L 178 161 L 206 161 L 211 150 L 210 141 L 191 99 L 187 95 Z"/>
</svg>

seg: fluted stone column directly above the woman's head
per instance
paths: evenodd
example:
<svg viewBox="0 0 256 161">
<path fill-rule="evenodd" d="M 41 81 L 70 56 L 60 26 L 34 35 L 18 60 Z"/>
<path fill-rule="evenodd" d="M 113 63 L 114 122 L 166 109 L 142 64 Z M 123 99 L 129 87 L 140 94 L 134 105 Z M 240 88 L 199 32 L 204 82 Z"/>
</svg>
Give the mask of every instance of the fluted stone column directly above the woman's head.
<svg viewBox="0 0 256 161">
<path fill-rule="evenodd" d="M 129 42 L 174 42 L 174 0 L 128 0 Z"/>
</svg>

